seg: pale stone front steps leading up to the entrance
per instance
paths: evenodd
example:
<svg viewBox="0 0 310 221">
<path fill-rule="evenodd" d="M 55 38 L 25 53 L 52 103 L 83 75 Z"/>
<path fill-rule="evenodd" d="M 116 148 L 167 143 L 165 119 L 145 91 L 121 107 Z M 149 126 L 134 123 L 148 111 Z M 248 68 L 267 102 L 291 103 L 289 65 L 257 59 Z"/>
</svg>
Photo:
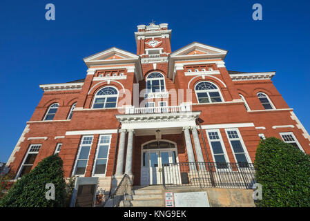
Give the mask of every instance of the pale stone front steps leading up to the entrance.
<svg viewBox="0 0 310 221">
<path fill-rule="evenodd" d="M 163 186 L 133 186 L 131 195 L 119 203 L 119 207 L 164 207 Z"/>
</svg>

